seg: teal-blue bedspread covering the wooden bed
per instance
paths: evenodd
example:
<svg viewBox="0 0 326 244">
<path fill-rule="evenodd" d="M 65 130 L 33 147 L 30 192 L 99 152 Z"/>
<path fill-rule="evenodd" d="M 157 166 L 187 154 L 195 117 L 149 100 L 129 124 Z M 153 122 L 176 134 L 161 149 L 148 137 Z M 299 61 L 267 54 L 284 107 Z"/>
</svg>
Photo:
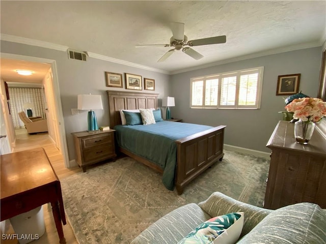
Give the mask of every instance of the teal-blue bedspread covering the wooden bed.
<svg viewBox="0 0 326 244">
<path fill-rule="evenodd" d="M 174 141 L 211 128 L 165 120 L 146 126 L 114 127 L 118 145 L 162 168 L 162 182 L 171 191 L 175 185 L 177 161 L 177 145 Z"/>
</svg>

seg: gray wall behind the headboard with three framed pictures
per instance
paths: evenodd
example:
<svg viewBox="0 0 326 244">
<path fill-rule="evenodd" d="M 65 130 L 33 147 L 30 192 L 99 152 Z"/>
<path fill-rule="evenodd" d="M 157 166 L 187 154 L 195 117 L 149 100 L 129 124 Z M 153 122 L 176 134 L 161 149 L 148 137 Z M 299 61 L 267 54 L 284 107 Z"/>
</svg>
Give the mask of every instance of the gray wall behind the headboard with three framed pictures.
<svg viewBox="0 0 326 244">
<path fill-rule="evenodd" d="M 106 87 L 105 71 L 120 73 L 123 74 L 123 76 L 124 73 L 138 74 L 143 76 L 143 78 L 154 79 L 155 91 L 142 90 L 142 92 L 158 93 L 158 106 L 161 106 L 161 98 L 169 95 L 170 77 L 166 74 L 115 64 L 96 58 L 88 58 L 87 62 L 68 59 L 67 52 L 8 41 L 1 41 L 1 52 L 56 60 L 70 160 L 75 158 L 71 133 L 87 130 L 87 111 L 79 110 L 79 114 L 71 115 L 71 108 L 77 108 L 77 95 L 89 93 L 102 95 L 104 109 L 96 110 L 95 112 L 98 125 L 103 126 L 110 125 L 106 90 L 132 91 L 126 90 L 125 88 Z"/>
</svg>

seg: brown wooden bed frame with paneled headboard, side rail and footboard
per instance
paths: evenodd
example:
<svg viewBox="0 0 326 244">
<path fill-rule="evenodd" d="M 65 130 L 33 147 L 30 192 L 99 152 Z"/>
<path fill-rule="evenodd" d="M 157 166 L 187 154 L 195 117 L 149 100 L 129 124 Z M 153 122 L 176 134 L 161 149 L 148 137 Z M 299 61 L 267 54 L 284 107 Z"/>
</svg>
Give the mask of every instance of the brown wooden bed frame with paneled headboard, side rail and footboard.
<svg viewBox="0 0 326 244">
<path fill-rule="evenodd" d="M 110 127 L 121 125 L 119 110 L 121 109 L 157 109 L 158 94 L 133 93 L 107 90 L 108 104 L 110 106 Z M 177 172 L 175 186 L 179 195 L 183 189 L 194 178 L 205 171 L 217 160 L 222 160 L 224 129 L 226 126 L 218 126 L 212 129 L 196 133 L 191 136 L 176 140 L 177 143 Z M 152 162 L 134 155 L 130 151 L 118 149 L 129 157 L 139 161 L 156 171 L 162 173 L 163 170 Z"/>
</svg>

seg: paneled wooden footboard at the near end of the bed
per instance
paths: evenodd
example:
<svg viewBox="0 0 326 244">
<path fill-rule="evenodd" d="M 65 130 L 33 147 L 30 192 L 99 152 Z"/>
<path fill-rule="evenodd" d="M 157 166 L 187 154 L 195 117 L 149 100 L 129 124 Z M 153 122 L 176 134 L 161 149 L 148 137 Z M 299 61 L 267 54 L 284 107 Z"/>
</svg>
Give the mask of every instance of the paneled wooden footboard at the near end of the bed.
<svg viewBox="0 0 326 244">
<path fill-rule="evenodd" d="M 212 129 L 176 140 L 177 173 L 176 189 L 179 195 L 194 178 L 211 166 L 216 160 L 222 160 L 224 129 L 218 126 Z"/>
</svg>

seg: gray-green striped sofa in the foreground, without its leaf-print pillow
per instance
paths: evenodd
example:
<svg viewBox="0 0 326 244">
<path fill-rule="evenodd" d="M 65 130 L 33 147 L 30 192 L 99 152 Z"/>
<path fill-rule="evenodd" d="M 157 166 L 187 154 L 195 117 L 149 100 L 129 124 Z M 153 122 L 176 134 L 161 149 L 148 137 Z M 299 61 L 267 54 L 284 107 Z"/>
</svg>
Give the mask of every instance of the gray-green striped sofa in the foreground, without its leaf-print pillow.
<svg viewBox="0 0 326 244">
<path fill-rule="evenodd" d="M 181 241 L 203 222 L 231 212 L 244 213 L 243 228 L 232 243 L 326 243 L 326 210 L 317 204 L 297 203 L 270 210 L 215 192 L 199 204 L 191 203 L 171 211 L 144 230 L 131 244 L 231 243 L 215 242 L 217 238 L 214 242 Z M 232 235 L 232 232 L 227 234 Z"/>
</svg>

